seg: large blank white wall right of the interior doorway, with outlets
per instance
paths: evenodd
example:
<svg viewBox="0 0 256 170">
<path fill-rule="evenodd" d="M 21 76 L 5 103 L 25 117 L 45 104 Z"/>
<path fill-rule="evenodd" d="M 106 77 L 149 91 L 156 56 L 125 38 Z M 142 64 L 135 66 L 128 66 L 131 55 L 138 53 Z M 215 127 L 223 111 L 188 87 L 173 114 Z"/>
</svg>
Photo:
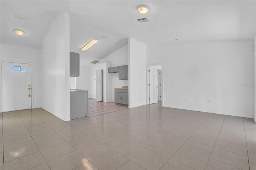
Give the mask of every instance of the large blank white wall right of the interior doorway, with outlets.
<svg viewBox="0 0 256 170">
<path fill-rule="evenodd" d="M 147 64 L 164 65 L 163 105 L 252 118 L 254 88 L 243 84 L 254 82 L 253 43 L 148 45 Z"/>
</svg>

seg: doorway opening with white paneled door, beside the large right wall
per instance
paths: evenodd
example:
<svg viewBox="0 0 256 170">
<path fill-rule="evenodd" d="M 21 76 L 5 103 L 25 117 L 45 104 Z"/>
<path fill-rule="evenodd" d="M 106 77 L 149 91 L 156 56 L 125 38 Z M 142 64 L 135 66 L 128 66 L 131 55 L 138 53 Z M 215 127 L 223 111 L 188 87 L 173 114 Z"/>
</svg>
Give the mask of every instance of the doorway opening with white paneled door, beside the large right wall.
<svg viewBox="0 0 256 170">
<path fill-rule="evenodd" d="M 147 65 L 147 104 L 163 101 L 163 64 Z"/>
</svg>

